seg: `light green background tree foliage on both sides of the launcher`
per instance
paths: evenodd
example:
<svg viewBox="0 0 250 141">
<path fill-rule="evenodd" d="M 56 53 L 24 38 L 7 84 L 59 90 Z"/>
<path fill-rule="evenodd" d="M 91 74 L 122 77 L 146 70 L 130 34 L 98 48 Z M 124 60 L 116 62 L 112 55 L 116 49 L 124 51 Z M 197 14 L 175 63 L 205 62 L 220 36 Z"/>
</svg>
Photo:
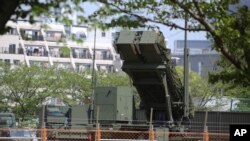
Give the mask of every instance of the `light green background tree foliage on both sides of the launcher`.
<svg viewBox="0 0 250 141">
<path fill-rule="evenodd" d="M 89 71 L 80 73 L 23 65 L 13 69 L 6 64 L 1 64 L 0 68 L 0 109 L 11 108 L 20 119 L 34 116 L 47 97 L 60 98 L 67 104 L 90 102 L 92 87 Z M 183 68 L 177 67 L 177 72 L 183 79 Z M 97 72 L 97 86 L 131 86 L 131 82 L 124 73 Z M 190 72 L 189 91 L 192 97 L 202 97 L 200 108 L 204 108 L 210 98 L 216 96 L 206 81 L 194 72 Z M 139 101 L 139 96 L 136 96 Z"/>
</svg>

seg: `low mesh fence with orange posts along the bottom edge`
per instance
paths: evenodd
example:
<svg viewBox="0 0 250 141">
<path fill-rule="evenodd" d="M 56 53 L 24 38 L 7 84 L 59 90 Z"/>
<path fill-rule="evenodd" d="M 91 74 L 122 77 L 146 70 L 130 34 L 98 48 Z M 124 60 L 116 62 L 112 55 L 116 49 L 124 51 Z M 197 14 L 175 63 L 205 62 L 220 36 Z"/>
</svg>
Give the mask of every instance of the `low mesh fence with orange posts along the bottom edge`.
<svg viewBox="0 0 250 141">
<path fill-rule="evenodd" d="M 0 133 L 1 141 L 229 141 L 228 133 L 168 132 L 157 130 L 118 131 L 43 128 L 0 129 Z"/>
</svg>

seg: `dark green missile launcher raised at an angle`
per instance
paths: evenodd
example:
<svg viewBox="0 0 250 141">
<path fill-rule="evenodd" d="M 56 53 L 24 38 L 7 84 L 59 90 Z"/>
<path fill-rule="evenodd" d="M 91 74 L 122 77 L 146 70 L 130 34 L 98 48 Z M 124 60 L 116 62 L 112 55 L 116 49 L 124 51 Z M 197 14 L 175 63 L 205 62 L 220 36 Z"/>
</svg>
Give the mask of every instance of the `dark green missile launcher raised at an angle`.
<svg viewBox="0 0 250 141">
<path fill-rule="evenodd" d="M 171 61 L 170 50 L 159 31 L 121 31 L 114 47 L 137 89 L 140 109 L 154 109 L 153 120 L 179 124 L 184 117 L 184 87 Z"/>
</svg>

